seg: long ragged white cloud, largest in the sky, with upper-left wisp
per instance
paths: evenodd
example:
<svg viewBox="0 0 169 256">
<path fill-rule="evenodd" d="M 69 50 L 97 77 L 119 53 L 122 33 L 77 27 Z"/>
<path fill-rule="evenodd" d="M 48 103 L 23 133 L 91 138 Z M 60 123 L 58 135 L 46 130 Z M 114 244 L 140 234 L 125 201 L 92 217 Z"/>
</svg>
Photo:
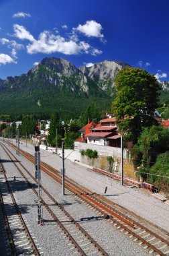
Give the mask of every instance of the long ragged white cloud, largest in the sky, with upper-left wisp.
<svg viewBox="0 0 169 256">
<path fill-rule="evenodd" d="M 41 32 L 38 40 L 30 34 L 23 26 L 15 24 L 13 26 L 14 36 L 21 40 L 29 40 L 30 43 L 27 44 L 27 53 L 64 53 L 65 55 L 76 55 L 79 53 L 91 53 L 91 55 L 101 54 L 102 51 L 94 49 L 89 43 L 84 41 L 78 41 L 76 36 L 70 37 L 66 40 L 63 36 L 53 34 L 50 31 L 44 30 Z"/>
</svg>

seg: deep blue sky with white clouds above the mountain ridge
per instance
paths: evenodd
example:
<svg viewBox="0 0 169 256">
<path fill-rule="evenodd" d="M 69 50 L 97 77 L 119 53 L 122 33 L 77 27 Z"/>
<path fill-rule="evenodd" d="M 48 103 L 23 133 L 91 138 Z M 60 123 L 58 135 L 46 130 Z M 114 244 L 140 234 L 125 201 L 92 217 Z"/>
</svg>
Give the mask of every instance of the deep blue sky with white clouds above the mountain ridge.
<svg viewBox="0 0 169 256">
<path fill-rule="evenodd" d="M 0 78 L 44 57 L 107 59 L 169 80 L 168 0 L 0 0 Z"/>
</svg>

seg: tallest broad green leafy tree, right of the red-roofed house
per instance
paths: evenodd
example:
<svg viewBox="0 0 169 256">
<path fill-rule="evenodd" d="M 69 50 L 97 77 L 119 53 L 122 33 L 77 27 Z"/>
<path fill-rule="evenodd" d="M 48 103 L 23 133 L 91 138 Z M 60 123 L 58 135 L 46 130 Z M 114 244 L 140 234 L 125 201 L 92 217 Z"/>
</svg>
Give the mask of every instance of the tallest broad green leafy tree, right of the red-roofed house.
<svg viewBox="0 0 169 256">
<path fill-rule="evenodd" d="M 143 127 L 155 122 L 160 86 L 156 77 L 146 70 L 125 67 L 117 73 L 115 88 L 112 112 L 117 117 L 119 130 L 123 131 L 125 139 L 137 143 Z"/>
</svg>

